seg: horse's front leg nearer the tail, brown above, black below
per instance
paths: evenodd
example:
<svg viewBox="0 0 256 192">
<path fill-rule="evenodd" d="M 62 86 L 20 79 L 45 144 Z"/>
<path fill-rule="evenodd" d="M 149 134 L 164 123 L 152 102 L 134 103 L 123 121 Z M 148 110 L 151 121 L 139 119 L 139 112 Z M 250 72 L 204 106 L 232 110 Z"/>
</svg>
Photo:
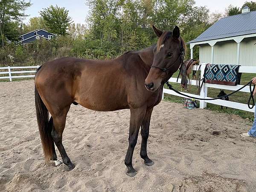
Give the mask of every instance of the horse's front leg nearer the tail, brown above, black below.
<svg viewBox="0 0 256 192">
<path fill-rule="evenodd" d="M 130 111 L 131 119 L 129 129 L 129 146 L 125 156 L 125 165 L 128 168 L 128 172 L 126 174 L 129 175 L 130 177 L 134 177 L 137 171 L 132 166 L 132 155 L 134 152 L 135 145 L 137 144 L 140 125 L 145 116 L 146 106 L 137 109 L 130 108 Z"/>
</svg>

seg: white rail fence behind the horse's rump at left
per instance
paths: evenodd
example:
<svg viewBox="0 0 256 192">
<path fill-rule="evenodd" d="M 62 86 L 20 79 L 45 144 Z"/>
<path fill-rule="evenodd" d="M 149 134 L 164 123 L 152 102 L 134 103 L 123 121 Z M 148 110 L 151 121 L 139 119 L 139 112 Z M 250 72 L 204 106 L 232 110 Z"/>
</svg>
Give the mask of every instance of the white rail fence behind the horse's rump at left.
<svg viewBox="0 0 256 192">
<path fill-rule="evenodd" d="M 20 74 L 20 73 L 35 73 L 36 70 L 29 70 L 29 69 L 37 69 L 38 66 L 25 66 L 25 67 L 0 67 L 0 74 L 8 74 L 5 76 L 0 76 L 0 79 L 9 79 L 9 81 L 12 81 L 14 78 L 29 78 L 29 77 L 35 77 L 35 75 L 20 75 L 20 76 L 13 76 L 12 74 Z M 13 71 L 13 69 L 27 69 L 26 71 Z M 2 71 L 3 70 L 3 71 Z"/>
</svg>

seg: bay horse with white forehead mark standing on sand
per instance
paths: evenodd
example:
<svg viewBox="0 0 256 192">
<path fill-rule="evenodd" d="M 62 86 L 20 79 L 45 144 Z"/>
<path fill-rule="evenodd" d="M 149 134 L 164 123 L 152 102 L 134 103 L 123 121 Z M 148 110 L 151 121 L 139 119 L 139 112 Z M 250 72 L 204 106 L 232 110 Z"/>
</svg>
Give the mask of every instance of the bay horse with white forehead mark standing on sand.
<svg viewBox="0 0 256 192">
<path fill-rule="evenodd" d="M 62 145 L 62 133 L 71 104 L 94 111 L 130 109 L 129 145 L 125 156 L 127 175 L 137 171 L 132 156 L 141 128 L 140 156 L 145 165 L 154 162 L 147 155 L 149 124 L 154 106 L 160 103 L 163 85 L 183 62 L 186 44 L 180 29 L 161 31 L 153 26 L 156 45 L 130 51 L 106 61 L 83 58 L 59 58 L 41 65 L 35 75 L 35 107 L 44 156 L 62 161 L 72 170 L 75 166 Z M 49 119 L 49 113 L 51 117 Z"/>
</svg>

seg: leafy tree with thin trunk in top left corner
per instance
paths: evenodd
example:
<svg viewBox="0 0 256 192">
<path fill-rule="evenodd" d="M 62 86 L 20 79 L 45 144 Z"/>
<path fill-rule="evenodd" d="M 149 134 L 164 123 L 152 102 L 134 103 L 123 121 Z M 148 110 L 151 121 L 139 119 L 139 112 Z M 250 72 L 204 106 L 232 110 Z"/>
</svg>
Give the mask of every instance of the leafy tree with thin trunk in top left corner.
<svg viewBox="0 0 256 192">
<path fill-rule="evenodd" d="M 5 34 L 3 32 L 6 23 L 15 20 L 21 21 L 27 15 L 24 11 L 31 6 L 30 2 L 25 0 L 1 0 L 0 1 L 0 33 L 2 38 L 2 47 L 4 47 Z"/>
</svg>

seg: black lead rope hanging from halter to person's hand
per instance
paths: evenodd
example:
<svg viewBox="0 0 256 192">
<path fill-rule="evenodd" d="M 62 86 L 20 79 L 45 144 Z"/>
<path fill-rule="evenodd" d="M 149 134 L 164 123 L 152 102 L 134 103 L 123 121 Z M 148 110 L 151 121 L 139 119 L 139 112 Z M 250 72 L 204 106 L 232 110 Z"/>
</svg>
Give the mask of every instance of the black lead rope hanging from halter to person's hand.
<svg viewBox="0 0 256 192">
<path fill-rule="evenodd" d="M 255 89 L 255 84 L 253 84 L 253 90 L 252 90 L 252 87 L 251 87 L 251 86 L 252 86 L 252 80 L 249 81 L 247 84 L 245 84 L 243 87 L 239 88 L 238 90 L 233 91 L 232 93 L 229 93 L 229 94 L 227 94 L 227 95 L 225 95 L 225 96 L 220 96 L 220 97 L 211 98 L 211 99 L 203 99 L 203 98 L 197 98 L 197 97 L 188 96 L 188 95 L 186 95 L 186 94 L 180 93 L 179 91 L 175 90 L 175 89 L 172 87 L 172 85 L 169 84 L 168 81 L 166 81 L 166 84 L 167 84 L 167 86 L 169 87 L 170 90 L 173 90 L 174 92 L 176 92 L 176 93 L 178 93 L 178 94 L 180 94 L 180 95 L 182 95 L 182 96 L 186 96 L 186 97 L 189 97 L 189 98 L 192 98 L 192 99 L 197 99 L 197 100 L 216 100 L 216 99 L 221 99 L 221 98 L 224 98 L 224 97 L 233 95 L 234 93 L 238 92 L 239 90 L 243 89 L 243 88 L 246 87 L 248 84 L 250 84 L 250 97 L 249 97 L 249 99 L 248 99 L 247 105 L 248 105 L 248 108 L 249 108 L 249 109 L 252 109 L 252 108 L 254 107 L 254 105 L 255 105 L 254 98 L 253 98 L 253 92 L 254 92 L 254 89 Z M 251 100 L 253 101 L 252 107 L 250 107 L 250 101 L 251 101 Z"/>
</svg>

